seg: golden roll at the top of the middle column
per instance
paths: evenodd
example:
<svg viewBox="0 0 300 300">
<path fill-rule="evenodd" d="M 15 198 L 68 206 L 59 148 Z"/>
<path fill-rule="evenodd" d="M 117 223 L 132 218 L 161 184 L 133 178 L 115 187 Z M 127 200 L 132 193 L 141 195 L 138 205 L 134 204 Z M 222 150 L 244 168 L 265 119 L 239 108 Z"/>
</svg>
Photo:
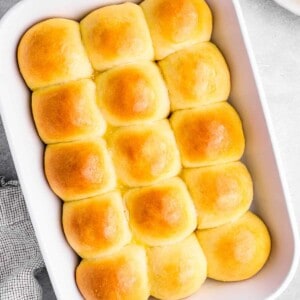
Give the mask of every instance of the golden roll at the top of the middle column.
<svg viewBox="0 0 300 300">
<path fill-rule="evenodd" d="M 80 26 L 89 58 L 98 71 L 153 59 L 149 29 L 137 4 L 101 7 L 86 16 Z"/>
</svg>

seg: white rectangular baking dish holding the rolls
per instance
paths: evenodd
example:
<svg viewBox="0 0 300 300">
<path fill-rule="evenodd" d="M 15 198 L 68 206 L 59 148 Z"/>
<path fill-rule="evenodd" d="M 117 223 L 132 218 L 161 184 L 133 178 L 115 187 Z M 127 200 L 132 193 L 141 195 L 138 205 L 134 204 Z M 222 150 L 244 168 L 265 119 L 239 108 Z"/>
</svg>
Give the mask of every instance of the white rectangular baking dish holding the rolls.
<svg viewBox="0 0 300 300">
<path fill-rule="evenodd" d="M 24 0 L 6 14 L 0 25 L 1 116 L 27 208 L 59 299 L 81 299 L 74 281 L 78 258 L 63 235 L 61 202 L 44 177 L 44 147 L 33 125 L 30 93 L 18 71 L 16 48 L 24 31 L 42 19 L 66 17 L 79 20 L 89 11 L 114 2 L 117 1 Z M 214 15 L 213 40 L 231 69 L 230 101 L 243 120 L 247 141 L 244 160 L 255 186 L 253 210 L 268 225 L 273 249 L 268 263 L 254 278 L 238 283 L 208 280 L 190 299 L 274 298 L 284 290 L 296 269 L 295 222 L 238 1 L 207 2 Z"/>
</svg>

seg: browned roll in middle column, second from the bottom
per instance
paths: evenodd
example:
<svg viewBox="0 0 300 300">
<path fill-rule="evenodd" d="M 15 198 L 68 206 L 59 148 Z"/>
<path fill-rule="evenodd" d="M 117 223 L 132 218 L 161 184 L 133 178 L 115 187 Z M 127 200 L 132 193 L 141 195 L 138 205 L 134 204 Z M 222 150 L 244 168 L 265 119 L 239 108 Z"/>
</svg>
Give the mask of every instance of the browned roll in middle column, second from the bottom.
<svg viewBox="0 0 300 300">
<path fill-rule="evenodd" d="M 179 178 L 129 190 L 124 200 L 135 239 L 149 246 L 174 244 L 196 228 L 193 202 Z"/>
</svg>

